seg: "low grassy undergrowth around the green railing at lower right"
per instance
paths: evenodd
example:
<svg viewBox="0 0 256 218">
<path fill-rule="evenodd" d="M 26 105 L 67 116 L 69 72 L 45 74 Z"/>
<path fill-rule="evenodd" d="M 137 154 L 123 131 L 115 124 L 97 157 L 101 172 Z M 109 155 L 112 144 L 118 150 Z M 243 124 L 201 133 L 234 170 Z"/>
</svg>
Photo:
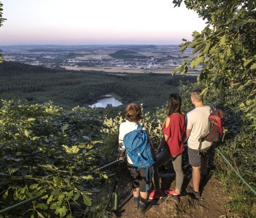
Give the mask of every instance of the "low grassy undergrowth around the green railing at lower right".
<svg viewBox="0 0 256 218">
<path fill-rule="evenodd" d="M 254 138 L 255 135 L 243 133 L 235 137 L 234 141 L 226 142 L 225 147 L 220 147 L 220 149 L 245 181 L 255 189 L 256 143 Z M 217 152 L 214 157 L 214 164 L 217 167 L 213 175 L 223 183 L 224 192 L 228 195 L 227 208 L 231 208 L 234 213 L 242 217 L 256 217 L 256 196 Z"/>
</svg>

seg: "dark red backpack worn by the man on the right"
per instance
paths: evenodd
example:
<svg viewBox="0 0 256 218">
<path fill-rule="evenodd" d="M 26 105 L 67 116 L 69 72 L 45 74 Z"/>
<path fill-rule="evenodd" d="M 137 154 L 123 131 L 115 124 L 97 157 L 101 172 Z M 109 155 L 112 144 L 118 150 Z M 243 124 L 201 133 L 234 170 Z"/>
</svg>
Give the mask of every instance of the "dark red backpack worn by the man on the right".
<svg viewBox="0 0 256 218">
<path fill-rule="evenodd" d="M 199 145 L 199 152 L 201 152 L 202 142 L 217 142 L 223 136 L 222 141 L 224 139 L 224 120 L 225 114 L 220 109 L 214 109 L 210 106 L 210 115 L 209 115 L 209 129 L 208 132 L 199 137 L 198 141 L 200 142 Z"/>
</svg>

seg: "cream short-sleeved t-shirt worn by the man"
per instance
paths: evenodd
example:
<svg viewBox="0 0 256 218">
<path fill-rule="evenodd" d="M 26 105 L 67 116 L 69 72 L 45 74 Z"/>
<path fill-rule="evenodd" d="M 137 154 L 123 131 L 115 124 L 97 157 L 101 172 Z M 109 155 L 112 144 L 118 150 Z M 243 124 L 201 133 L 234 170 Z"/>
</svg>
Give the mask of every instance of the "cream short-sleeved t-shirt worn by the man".
<svg viewBox="0 0 256 218">
<path fill-rule="evenodd" d="M 192 149 L 198 149 L 199 142 L 198 138 L 203 136 L 208 132 L 209 129 L 209 115 L 210 115 L 210 107 L 196 107 L 191 112 L 187 113 L 186 123 L 187 129 L 191 129 L 190 136 L 187 141 L 188 147 Z M 202 143 L 202 149 L 209 147 L 212 145 L 212 142 L 204 141 Z"/>
</svg>

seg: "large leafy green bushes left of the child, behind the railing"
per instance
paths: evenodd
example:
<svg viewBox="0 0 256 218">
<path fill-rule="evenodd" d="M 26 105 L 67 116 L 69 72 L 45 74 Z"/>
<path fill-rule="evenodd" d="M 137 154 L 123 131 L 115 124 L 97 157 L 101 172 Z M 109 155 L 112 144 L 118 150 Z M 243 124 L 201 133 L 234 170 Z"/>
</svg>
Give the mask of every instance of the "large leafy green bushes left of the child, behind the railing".
<svg viewBox="0 0 256 218">
<path fill-rule="evenodd" d="M 0 208 L 49 192 L 6 217 L 83 214 L 82 208 L 91 205 L 92 188 L 96 191 L 107 178 L 102 172 L 89 175 L 104 164 L 96 149 L 102 125 L 96 112 L 80 107 L 67 111 L 51 102 L 2 104 Z"/>
</svg>

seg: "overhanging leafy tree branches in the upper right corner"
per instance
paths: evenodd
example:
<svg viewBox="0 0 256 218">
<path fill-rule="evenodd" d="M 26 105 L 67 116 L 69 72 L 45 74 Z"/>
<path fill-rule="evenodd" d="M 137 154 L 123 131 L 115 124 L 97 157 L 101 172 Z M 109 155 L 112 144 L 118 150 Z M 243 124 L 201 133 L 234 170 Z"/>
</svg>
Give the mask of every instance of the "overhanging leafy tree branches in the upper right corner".
<svg viewBox="0 0 256 218">
<path fill-rule="evenodd" d="M 174 0 L 180 6 L 183 0 Z M 194 31 L 192 41 L 184 40 L 181 50 L 187 46 L 195 54 L 184 61 L 177 70 L 187 72 L 199 64 L 204 68 L 198 81 L 206 86 L 204 91 L 213 87 L 229 87 L 238 93 L 244 92 L 240 108 L 251 120 L 256 130 L 256 2 L 255 0 L 186 0 L 188 9 L 198 13 L 208 25 L 201 33 Z"/>
</svg>

